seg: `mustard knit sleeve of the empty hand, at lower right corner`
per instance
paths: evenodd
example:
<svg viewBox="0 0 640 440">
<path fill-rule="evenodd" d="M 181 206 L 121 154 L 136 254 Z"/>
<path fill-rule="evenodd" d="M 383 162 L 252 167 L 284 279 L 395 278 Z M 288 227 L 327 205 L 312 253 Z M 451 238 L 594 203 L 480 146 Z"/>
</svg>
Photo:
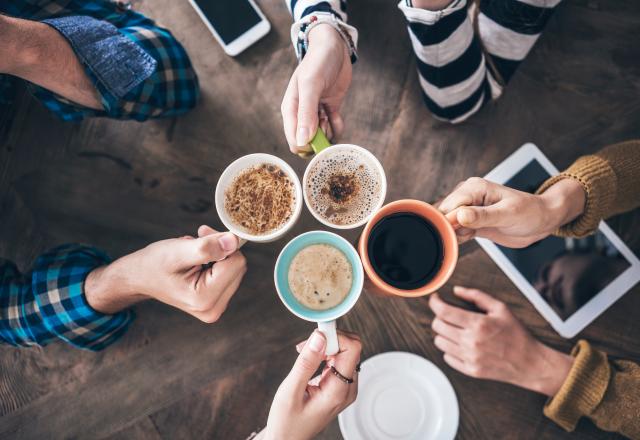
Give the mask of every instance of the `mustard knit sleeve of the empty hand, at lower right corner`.
<svg viewBox="0 0 640 440">
<path fill-rule="evenodd" d="M 587 417 L 605 431 L 640 439 L 640 365 L 611 360 L 579 341 L 573 367 L 544 407 L 544 414 L 567 431 Z"/>
</svg>

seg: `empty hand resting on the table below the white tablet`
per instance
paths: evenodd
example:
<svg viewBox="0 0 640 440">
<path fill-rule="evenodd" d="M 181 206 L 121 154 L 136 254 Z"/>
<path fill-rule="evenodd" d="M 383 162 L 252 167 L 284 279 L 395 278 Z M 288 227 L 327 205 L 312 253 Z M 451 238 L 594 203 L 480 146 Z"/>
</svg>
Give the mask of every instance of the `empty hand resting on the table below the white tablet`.
<svg viewBox="0 0 640 440">
<path fill-rule="evenodd" d="M 484 292 L 454 287 L 453 292 L 484 313 L 474 313 L 431 295 L 435 346 L 444 361 L 471 377 L 507 382 L 547 396 L 565 381 L 573 358 L 537 341 L 506 304 Z"/>
</svg>

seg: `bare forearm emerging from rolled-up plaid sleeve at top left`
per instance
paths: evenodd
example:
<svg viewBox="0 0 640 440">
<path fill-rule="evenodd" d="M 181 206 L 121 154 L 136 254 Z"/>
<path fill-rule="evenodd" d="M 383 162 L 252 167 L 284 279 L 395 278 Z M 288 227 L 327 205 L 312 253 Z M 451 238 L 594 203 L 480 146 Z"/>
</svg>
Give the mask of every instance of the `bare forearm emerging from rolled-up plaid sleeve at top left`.
<svg viewBox="0 0 640 440">
<path fill-rule="evenodd" d="M 44 23 L 0 16 L 0 73 L 7 73 L 93 109 L 97 90 L 67 40 Z"/>
</svg>

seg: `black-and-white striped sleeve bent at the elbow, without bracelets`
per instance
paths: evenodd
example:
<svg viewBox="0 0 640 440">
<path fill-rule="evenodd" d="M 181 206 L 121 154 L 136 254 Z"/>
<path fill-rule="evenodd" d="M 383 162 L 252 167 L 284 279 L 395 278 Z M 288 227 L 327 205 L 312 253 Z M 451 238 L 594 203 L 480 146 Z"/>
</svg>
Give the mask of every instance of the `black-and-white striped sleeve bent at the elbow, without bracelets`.
<svg viewBox="0 0 640 440">
<path fill-rule="evenodd" d="M 440 11 L 413 8 L 400 1 L 423 99 L 436 118 L 462 122 L 501 95 L 559 0 L 547 2 L 549 7 L 534 5 L 543 2 L 482 0 L 477 35 L 473 7 L 467 0 L 453 0 Z"/>
</svg>

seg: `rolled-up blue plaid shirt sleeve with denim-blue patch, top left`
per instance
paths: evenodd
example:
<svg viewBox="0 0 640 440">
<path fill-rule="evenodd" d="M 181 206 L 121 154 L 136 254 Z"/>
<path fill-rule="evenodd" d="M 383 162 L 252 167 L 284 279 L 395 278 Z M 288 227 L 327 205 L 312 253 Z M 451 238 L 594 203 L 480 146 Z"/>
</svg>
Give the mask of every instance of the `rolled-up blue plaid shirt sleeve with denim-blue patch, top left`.
<svg viewBox="0 0 640 440">
<path fill-rule="evenodd" d="M 67 121 L 107 116 L 144 121 L 193 108 L 198 79 L 182 45 L 167 29 L 109 0 L 2 0 L 0 13 L 46 23 L 75 51 L 104 110 L 79 106 L 30 84 L 47 108 Z M 0 75 L 0 103 L 16 78 Z"/>
</svg>

